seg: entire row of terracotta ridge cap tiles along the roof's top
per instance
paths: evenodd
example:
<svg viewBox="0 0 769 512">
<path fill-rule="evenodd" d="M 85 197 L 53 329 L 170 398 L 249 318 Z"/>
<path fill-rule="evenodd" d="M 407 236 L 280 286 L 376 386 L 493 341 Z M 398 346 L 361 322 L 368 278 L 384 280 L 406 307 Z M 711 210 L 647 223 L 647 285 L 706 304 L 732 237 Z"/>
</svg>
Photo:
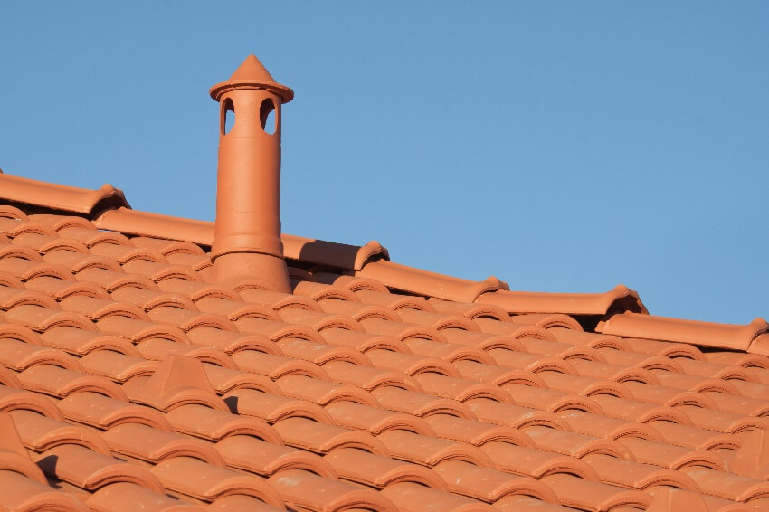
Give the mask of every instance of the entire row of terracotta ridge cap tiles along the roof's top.
<svg viewBox="0 0 769 512">
<path fill-rule="evenodd" d="M 112 185 L 87 189 L 7 175 L 0 170 L 0 198 L 79 213 L 102 230 L 200 245 L 211 245 L 214 240 L 214 223 L 133 210 L 123 192 Z M 764 338 L 769 333 L 769 325 L 764 318 L 756 318 L 750 324 L 741 326 L 656 317 L 649 315 L 638 292 L 622 284 L 603 293 L 510 290 L 508 283 L 494 276 L 481 281 L 465 280 L 394 263 L 389 261 L 387 249 L 376 241 L 358 246 L 287 233 L 282 233 L 280 239 L 286 258 L 347 270 L 359 277 L 379 280 L 391 289 L 416 295 L 493 305 L 512 314 L 565 313 L 583 318 L 603 318 L 600 323 L 597 319 L 593 320 L 591 327 L 598 323 L 596 328 L 599 332 L 609 335 L 696 343 L 760 354 L 767 350 Z M 675 331 L 677 335 L 671 336 L 669 329 L 660 327 L 671 322 L 680 327 Z M 704 339 L 692 334 L 700 328 L 704 329 Z M 660 329 L 664 335 L 661 331 L 655 334 Z M 697 341 L 692 341 L 695 338 Z"/>
</svg>

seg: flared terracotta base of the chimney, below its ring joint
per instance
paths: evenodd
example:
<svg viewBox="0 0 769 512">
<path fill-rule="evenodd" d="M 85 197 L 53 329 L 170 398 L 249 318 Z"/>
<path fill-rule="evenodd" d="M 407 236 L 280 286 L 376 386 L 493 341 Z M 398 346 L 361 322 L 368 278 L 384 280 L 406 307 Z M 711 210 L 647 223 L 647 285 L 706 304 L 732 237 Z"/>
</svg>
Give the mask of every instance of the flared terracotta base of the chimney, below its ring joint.
<svg viewBox="0 0 769 512">
<path fill-rule="evenodd" d="M 291 293 L 291 282 L 286 261 L 270 254 L 256 252 L 230 252 L 214 260 L 217 280 L 257 280 L 265 289 Z"/>
</svg>

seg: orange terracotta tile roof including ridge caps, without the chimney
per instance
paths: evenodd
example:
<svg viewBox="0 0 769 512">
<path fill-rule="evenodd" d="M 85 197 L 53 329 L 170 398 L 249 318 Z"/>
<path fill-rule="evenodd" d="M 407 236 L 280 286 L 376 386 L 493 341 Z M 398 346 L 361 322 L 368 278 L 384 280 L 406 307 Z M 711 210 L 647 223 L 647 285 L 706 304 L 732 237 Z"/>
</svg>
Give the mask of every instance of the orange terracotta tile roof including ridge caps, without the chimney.
<svg viewBox="0 0 769 512">
<path fill-rule="evenodd" d="M 769 507 L 769 326 L 514 291 L 282 235 L 292 293 L 217 282 L 212 223 L 0 174 L 0 507 Z"/>
</svg>

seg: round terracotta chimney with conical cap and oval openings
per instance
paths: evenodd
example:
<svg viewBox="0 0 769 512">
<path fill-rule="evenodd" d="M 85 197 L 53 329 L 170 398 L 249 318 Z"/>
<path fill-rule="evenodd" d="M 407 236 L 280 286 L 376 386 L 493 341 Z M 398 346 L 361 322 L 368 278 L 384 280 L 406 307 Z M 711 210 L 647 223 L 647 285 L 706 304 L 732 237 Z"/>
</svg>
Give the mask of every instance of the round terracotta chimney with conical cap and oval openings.
<svg viewBox="0 0 769 512">
<path fill-rule="evenodd" d="M 267 288 L 290 293 L 280 242 L 280 107 L 294 91 L 249 55 L 230 80 L 209 92 L 220 103 L 211 250 L 216 277 L 261 280 Z M 234 124 L 228 128 L 231 116 Z"/>
</svg>

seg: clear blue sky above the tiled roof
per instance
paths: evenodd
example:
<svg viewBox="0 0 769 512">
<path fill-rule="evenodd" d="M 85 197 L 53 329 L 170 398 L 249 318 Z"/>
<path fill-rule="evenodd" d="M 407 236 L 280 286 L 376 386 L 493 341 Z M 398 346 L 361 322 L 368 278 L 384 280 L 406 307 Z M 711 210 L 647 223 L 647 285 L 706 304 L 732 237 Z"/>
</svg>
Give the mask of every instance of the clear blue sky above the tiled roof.
<svg viewBox="0 0 769 512">
<path fill-rule="evenodd" d="M 3 2 L 0 167 L 213 220 L 249 53 L 296 92 L 284 232 L 769 317 L 769 3 Z"/>
</svg>

